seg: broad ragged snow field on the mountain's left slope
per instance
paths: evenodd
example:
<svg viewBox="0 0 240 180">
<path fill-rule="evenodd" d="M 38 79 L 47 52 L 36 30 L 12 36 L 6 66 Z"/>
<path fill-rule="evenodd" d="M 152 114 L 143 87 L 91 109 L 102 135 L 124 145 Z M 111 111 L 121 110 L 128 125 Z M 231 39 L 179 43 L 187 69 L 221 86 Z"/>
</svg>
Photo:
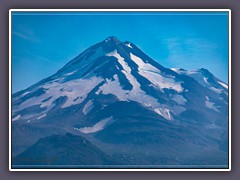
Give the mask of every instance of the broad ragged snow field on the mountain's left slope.
<svg viewBox="0 0 240 180">
<path fill-rule="evenodd" d="M 80 104 L 85 100 L 88 94 L 102 81 L 103 79 L 100 77 L 92 77 L 88 79 L 75 79 L 64 83 L 49 82 L 39 87 L 44 88 L 44 94 L 38 97 L 32 97 L 22 102 L 19 106 L 15 107 L 14 112 L 21 111 L 34 105 L 39 105 L 41 108 L 46 107 L 47 109 L 35 114 L 35 116 L 39 115 L 40 113 L 46 113 L 52 107 L 54 107 L 53 102 L 60 96 L 67 97 L 66 102 L 61 106 L 61 108 Z M 35 89 L 35 91 L 37 91 L 38 89 Z M 34 91 L 32 93 L 34 93 Z M 48 99 L 49 97 L 51 98 Z M 48 100 L 44 101 L 46 99 Z"/>
</svg>

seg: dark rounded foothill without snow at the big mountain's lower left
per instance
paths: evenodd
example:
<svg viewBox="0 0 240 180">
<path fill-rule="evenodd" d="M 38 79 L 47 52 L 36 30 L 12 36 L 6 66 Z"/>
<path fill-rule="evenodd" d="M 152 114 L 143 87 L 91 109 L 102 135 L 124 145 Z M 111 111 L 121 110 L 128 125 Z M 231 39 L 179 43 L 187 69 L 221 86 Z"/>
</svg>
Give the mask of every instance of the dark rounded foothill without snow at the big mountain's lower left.
<svg viewBox="0 0 240 180">
<path fill-rule="evenodd" d="M 14 165 L 105 165 L 112 160 L 80 136 L 67 133 L 41 138 L 13 159 Z"/>
</svg>

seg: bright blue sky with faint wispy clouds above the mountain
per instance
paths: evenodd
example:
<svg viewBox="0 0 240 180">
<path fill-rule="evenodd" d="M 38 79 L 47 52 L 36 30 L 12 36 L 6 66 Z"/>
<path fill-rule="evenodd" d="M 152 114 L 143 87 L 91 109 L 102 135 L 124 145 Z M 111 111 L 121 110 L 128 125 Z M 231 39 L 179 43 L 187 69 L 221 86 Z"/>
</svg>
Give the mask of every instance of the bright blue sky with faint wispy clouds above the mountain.
<svg viewBox="0 0 240 180">
<path fill-rule="evenodd" d="M 13 12 L 12 91 L 109 36 L 133 42 L 165 67 L 203 67 L 228 82 L 227 12 Z"/>
</svg>

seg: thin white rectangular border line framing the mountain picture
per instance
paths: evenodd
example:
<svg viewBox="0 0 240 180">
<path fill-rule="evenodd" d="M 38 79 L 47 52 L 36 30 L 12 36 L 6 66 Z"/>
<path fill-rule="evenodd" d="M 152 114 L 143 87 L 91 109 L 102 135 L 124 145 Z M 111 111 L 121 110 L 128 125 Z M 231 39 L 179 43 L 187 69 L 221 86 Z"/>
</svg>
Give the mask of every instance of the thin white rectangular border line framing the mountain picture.
<svg viewBox="0 0 240 180">
<path fill-rule="evenodd" d="M 17 169 L 12 168 L 12 137 L 11 137 L 11 123 L 12 123 L 12 56 L 11 56 L 11 42 L 12 42 L 12 12 L 228 12 L 229 21 L 229 58 L 228 58 L 228 135 L 229 135 L 229 149 L 228 149 L 228 169 Z M 231 10 L 230 9 L 10 9 L 9 10 L 9 171 L 231 171 Z"/>
</svg>

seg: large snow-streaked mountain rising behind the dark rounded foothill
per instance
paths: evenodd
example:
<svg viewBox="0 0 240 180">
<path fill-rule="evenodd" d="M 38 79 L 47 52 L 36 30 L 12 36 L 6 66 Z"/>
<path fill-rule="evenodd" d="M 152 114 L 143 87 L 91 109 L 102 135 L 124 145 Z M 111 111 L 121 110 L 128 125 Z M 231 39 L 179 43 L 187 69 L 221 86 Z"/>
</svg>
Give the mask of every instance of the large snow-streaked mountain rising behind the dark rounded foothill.
<svg viewBox="0 0 240 180">
<path fill-rule="evenodd" d="M 12 95 L 12 155 L 72 133 L 129 165 L 227 165 L 228 86 L 109 37 Z"/>
</svg>

